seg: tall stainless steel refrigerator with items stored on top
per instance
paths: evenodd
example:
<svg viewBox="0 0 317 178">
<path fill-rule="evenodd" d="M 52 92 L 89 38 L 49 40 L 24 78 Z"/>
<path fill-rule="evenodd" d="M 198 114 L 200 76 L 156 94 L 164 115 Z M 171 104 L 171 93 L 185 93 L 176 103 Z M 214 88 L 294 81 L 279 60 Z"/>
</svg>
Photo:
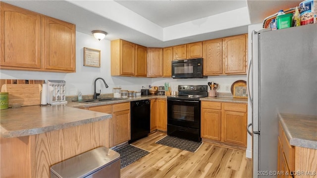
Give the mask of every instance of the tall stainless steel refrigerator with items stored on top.
<svg viewBox="0 0 317 178">
<path fill-rule="evenodd" d="M 317 115 L 317 24 L 254 31 L 248 89 L 253 177 L 265 177 L 277 171 L 277 114 Z"/>
</svg>

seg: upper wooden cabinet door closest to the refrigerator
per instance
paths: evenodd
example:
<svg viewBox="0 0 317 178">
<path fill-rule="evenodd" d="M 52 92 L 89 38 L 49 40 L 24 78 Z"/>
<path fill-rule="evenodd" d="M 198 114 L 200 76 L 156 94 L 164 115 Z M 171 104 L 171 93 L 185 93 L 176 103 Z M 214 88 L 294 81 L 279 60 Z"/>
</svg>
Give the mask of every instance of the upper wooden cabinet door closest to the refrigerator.
<svg viewBox="0 0 317 178">
<path fill-rule="evenodd" d="M 246 74 L 246 35 L 224 38 L 222 62 L 224 74 Z"/>
</svg>

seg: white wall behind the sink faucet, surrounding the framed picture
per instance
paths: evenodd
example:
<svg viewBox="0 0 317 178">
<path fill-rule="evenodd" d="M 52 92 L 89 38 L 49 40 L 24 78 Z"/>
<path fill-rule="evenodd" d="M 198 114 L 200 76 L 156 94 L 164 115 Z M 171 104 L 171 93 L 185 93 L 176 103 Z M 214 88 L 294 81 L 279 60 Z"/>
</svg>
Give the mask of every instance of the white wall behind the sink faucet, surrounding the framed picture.
<svg viewBox="0 0 317 178">
<path fill-rule="evenodd" d="M 83 48 L 89 47 L 101 50 L 101 67 L 83 66 Z M 105 79 L 109 88 L 98 80 L 97 91 L 112 93 L 112 88 L 121 86 L 122 89 L 140 90 L 141 86 L 151 84 L 149 78 L 111 77 L 110 76 L 110 41 L 98 41 L 92 35 L 76 32 L 76 73 L 30 72 L 1 70 L 1 79 L 34 79 L 34 80 L 64 80 L 66 81 L 66 95 L 77 95 L 80 90 L 83 94 L 93 94 L 93 82 L 97 77 Z"/>
</svg>

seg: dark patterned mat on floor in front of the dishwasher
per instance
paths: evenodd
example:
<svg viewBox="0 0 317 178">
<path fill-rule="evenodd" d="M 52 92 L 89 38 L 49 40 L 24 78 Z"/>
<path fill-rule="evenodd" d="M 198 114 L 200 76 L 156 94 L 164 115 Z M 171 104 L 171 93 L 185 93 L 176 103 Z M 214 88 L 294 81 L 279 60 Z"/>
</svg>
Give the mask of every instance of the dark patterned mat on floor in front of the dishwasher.
<svg viewBox="0 0 317 178">
<path fill-rule="evenodd" d="M 137 148 L 130 144 L 114 149 L 114 151 L 120 154 L 121 169 L 150 153 L 146 150 Z"/>
</svg>

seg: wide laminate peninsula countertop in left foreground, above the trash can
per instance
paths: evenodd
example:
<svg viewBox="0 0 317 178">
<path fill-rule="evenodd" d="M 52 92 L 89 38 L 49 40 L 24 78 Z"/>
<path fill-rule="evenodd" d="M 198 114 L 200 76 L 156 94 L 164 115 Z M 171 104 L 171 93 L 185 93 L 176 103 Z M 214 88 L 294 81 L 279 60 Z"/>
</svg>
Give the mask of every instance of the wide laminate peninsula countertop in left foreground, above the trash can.
<svg viewBox="0 0 317 178">
<path fill-rule="evenodd" d="M 111 118 L 111 114 L 68 107 L 23 106 L 0 111 L 1 137 L 42 134 Z"/>
</svg>

